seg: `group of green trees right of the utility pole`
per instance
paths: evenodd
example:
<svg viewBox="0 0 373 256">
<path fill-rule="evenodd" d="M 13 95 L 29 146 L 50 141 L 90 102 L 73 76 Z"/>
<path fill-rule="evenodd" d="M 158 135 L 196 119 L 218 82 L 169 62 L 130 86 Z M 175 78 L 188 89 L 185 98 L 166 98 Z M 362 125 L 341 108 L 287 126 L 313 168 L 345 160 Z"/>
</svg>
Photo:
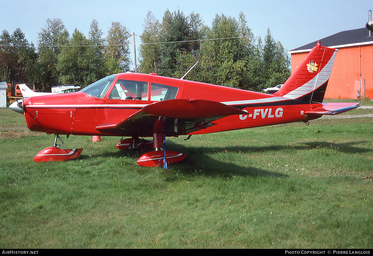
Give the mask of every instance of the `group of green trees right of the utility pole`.
<svg viewBox="0 0 373 256">
<path fill-rule="evenodd" d="M 140 72 L 258 90 L 283 82 L 290 60 L 280 43 L 268 35 L 264 46 L 255 38 L 243 13 L 239 19 L 216 15 L 211 28 L 198 14 L 167 10 L 162 23 L 151 12 L 140 45 Z M 257 43 L 256 43 L 257 42 Z"/>
</svg>

